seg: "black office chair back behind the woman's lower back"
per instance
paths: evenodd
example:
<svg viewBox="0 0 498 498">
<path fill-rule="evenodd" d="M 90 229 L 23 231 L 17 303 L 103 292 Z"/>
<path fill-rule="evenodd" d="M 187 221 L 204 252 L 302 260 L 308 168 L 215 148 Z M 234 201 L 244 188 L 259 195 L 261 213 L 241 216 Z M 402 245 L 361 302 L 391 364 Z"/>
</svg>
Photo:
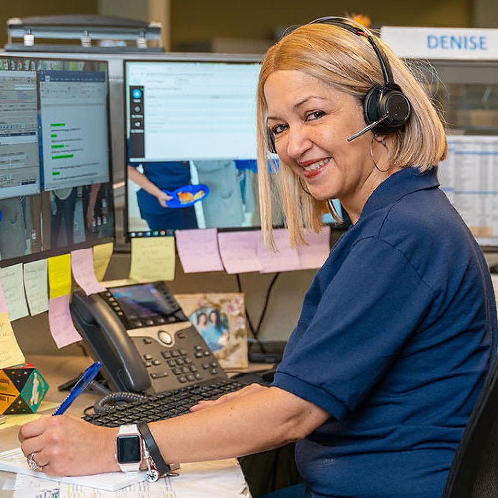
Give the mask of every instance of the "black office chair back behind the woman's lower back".
<svg viewBox="0 0 498 498">
<path fill-rule="evenodd" d="M 498 358 L 455 453 L 442 498 L 498 497 Z"/>
</svg>

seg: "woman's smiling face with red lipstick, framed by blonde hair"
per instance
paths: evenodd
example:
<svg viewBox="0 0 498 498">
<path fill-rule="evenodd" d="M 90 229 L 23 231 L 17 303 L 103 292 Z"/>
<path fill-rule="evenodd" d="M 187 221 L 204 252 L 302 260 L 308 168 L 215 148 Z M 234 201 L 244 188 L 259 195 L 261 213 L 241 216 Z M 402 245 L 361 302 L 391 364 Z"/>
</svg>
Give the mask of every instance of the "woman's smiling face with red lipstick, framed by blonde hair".
<svg viewBox="0 0 498 498">
<path fill-rule="evenodd" d="M 346 141 L 365 127 L 358 100 L 294 69 L 270 74 L 264 96 L 280 159 L 306 182 L 314 198 L 340 199 L 356 221 L 373 190 L 395 172 L 382 174 L 374 168 L 369 150 L 372 133 Z M 374 141 L 380 168 L 386 158 L 381 149 Z"/>
</svg>

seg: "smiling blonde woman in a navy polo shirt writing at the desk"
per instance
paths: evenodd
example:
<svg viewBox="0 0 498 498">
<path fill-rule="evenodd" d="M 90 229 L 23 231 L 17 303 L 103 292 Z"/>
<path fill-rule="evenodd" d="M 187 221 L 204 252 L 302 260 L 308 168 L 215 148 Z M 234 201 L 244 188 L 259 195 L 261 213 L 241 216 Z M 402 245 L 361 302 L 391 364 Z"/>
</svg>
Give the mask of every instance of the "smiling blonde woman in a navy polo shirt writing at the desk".
<svg viewBox="0 0 498 498">
<path fill-rule="evenodd" d="M 302 239 L 303 217 L 317 227 L 328 199 L 341 200 L 353 226 L 317 273 L 273 385 L 149 424 L 166 461 L 298 441 L 308 497 L 441 496 L 495 358 L 496 309 L 483 254 L 438 188 L 441 121 L 376 42 L 411 116 L 393 134 L 367 131 L 351 142 L 365 127 L 362 100 L 384 79 L 367 37 L 308 24 L 266 54 L 258 87 L 266 240 L 267 126 L 292 242 Z M 118 469 L 116 432 L 52 417 L 26 424 L 20 439 L 47 473 L 93 473 Z"/>
</svg>

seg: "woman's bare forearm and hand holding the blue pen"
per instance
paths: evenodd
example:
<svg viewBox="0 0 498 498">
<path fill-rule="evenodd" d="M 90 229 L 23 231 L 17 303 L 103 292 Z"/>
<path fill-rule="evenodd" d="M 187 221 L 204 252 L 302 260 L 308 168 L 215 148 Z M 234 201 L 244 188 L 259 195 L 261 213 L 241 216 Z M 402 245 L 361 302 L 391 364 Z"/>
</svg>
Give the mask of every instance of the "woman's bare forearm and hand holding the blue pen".
<svg viewBox="0 0 498 498">
<path fill-rule="evenodd" d="M 277 387 L 227 399 L 177 418 L 153 422 L 150 430 L 166 462 L 235 457 L 302 439 L 329 418 L 312 403 Z M 118 470 L 118 429 L 62 415 L 25 424 L 23 453 L 50 475 L 85 475 Z"/>
</svg>

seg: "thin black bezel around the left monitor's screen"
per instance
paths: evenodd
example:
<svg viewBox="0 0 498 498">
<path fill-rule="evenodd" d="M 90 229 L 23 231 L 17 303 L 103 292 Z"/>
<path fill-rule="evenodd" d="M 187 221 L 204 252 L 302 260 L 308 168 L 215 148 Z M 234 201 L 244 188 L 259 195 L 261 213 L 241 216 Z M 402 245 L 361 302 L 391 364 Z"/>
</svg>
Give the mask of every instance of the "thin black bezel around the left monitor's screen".
<svg viewBox="0 0 498 498">
<path fill-rule="evenodd" d="M 55 55 L 55 54 L 54 54 Z M 31 57 L 30 55 L 17 55 L 17 54 L 10 54 L 8 52 L 5 52 L 2 55 L 2 59 L 14 59 L 14 60 L 34 60 L 34 61 L 43 61 L 43 60 L 48 60 L 48 61 L 61 61 L 61 62 L 91 62 L 91 63 L 104 63 L 106 65 L 107 69 L 107 78 L 106 78 L 106 85 L 107 85 L 107 97 L 106 97 L 106 109 L 107 109 L 107 133 L 108 133 L 108 147 L 109 147 L 109 184 L 111 186 L 111 196 L 110 196 L 110 207 L 113 212 L 113 225 L 112 225 L 112 236 L 108 236 L 103 238 L 102 240 L 99 240 L 98 243 L 95 243 L 95 241 L 85 241 L 85 242 L 79 242 L 76 244 L 72 244 L 70 247 L 65 246 L 65 248 L 56 248 L 56 249 L 46 249 L 42 250 L 40 252 L 34 252 L 32 254 L 24 254 L 22 256 L 16 256 L 12 257 L 9 259 L 0 259 L 0 268 L 6 268 L 8 266 L 12 266 L 14 264 L 19 264 L 19 263 L 30 263 L 33 261 L 39 261 L 40 259 L 47 259 L 49 257 L 54 257 L 54 256 L 60 256 L 62 254 L 69 254 L 73 250 L 78 250 L 78 249 L 88 249 L 93 246 L 99 246 L 101 244 L 106 244 L 109 242 L 114 242 L 116 241 L 116 213 L 114 211 L 114 188 L 113 188 L 113 162 L 112 162 L 112 144 L 111 144 L 111 105 L 110 105 L 110 85 L 109 85 L 109 61 L 102 60 L 102 59 L 86 59 L 84 57 L 51 57 L 51 56 L 35 56 Z M 39 91 L 39 80 L 38 80 L 38 70 L 36 69 L 36 85 L 37 85 L 37 92 Z M 37 95 L 37 98 L 39 96 Z M 41 105 L 41 104 L 40 104 Z M 41 107 L 40 109 L 37 110 L 37 112 L 41 112 Z M 35 195 L 41 195 L 40 194 L 35 194 Z M 18 196 L 19 197 L 19 196 Z M 22 196 L 21 196 L 22 197 Z"/>
</svg>

